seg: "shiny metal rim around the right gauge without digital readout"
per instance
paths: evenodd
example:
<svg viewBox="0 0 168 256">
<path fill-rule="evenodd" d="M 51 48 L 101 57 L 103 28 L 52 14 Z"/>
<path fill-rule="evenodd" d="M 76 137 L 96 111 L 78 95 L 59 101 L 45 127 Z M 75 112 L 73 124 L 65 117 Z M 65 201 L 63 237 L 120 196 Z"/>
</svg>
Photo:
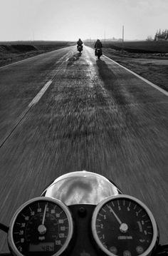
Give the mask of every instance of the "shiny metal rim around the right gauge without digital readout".
<svg viewBox="0 0 168 256">
<path fill-rule="evenodd" d="M 110 252 L 109 250 L 107 250 L 103 246 L 102 242 L 100 242 L 100 239 L 99 239 L 97 231 L 96 231 L 96 220 L 97 220 L 97 217 L 98 217 L 98 213 L 100 212 L 100 209 L 103 208 L 103 205 L 105 205 L 106 203 L 110 202 L 111 200 L 116 200 L 116 199 L 128 199 L 128 200 L 130 199 L 130 200 L 133 200 L 135 203 L 139 204 L 142 208 L 144 208 L 144 210 L 149 215 L 149 218 L 150 218 L 150 220 L 152 222 L 152 228 L 153 228 L 152 242 L 150 243 L 150 245 L 147 248 L 147 250 L 145 252 L 143 252 L 140 256 L 149 256 L 149 255 L 151 255 L 151 252 L 154 249 L 155 245 L 157 244 L 157 240 L 158 240 L 158 237 L 159 237 L 157 223 L 154 220 L 154 216 L 152 215 L 152 212 L 149 210 L 149 208 L 147 208 L 147 205 L 145 205 L 144 203 L 142 203 L 142 201 L 140 201 L 137 198 L 134 198 L 134 197 L 132 197 L 130 195 L 123 195 L 123 194 L 121 194 L 121 195 L 112 195 L 109 198 L 105 198 L 105 200 L 101 201 L 96 206 L 96 208 L 95 208 L 95 210 L 93 212 L 92 223 L 91 223 L 93 237 L 95 239 L 96 244 L 98 245 L 100 250 L 105 252 L 106 255 L 116 256 L 115 254 L 113 254 L 112 252 Z"/>
</svg>

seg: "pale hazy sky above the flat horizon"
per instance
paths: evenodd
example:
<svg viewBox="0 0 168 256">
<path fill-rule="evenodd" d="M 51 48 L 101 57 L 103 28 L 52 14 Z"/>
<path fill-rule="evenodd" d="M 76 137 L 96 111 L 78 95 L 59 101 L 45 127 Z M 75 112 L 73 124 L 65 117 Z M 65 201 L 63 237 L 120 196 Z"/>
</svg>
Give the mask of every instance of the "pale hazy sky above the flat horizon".
<svg viewBox="0 0 168 256">
<path fill-rule="evenodd" d="M 168 0 L 0 0 L 0 41 L 122 38 L 168 29 Z"/>
</svg>

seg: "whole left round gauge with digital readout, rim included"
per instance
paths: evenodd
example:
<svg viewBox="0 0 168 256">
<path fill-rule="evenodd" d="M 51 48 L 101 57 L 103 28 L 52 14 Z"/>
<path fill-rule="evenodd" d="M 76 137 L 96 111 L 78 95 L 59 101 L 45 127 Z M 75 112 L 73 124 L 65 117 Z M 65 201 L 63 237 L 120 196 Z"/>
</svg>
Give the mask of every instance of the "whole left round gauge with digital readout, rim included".
<svg viewBox="0 0 168 256">
<path fill-rule="evenodd" d="M 14 255 L 60 255 L 73 233 L 68 208 L 53 198 L 34 198 L 16 212 L 9 227 Z"/>
</svg>

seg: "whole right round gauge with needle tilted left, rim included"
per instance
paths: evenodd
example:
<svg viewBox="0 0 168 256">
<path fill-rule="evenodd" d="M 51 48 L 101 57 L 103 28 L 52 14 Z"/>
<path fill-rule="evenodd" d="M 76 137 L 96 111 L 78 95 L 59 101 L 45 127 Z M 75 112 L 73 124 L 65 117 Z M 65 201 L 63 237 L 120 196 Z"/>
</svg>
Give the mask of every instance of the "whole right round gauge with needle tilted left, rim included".
<svg viewBox="0 0 168 256">
<path fill-rule="evenodd" d="M 106 198 L 93 213 L 93 237 L 107 255 L 149 255 L 157 242 L 157 224 L 140 200 L 128 195 Z"/>
</svg>

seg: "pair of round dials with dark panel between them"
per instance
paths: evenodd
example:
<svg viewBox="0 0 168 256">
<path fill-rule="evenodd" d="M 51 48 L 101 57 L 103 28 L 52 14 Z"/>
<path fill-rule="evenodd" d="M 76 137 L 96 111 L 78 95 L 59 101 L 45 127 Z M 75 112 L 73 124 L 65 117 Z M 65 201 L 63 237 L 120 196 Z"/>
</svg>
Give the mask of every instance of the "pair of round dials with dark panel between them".
<svg viewBox="0 0 168 256">
<path fill-rule="evenodd" d="M 154 252 L 157 224 L 140 200 L 130 195 L 115 195 L 91 208 L 75 207 L 46 197 L 33 198 L 21 205 L 9 226 L 12 255 L 90 255 L 80 236 L 90 241 L 92 255 L 147 256 Z M 83 227 L 78 227 L 82 222 Z M 78 247 L 75 252 L 74 247 Z"/>
</svg>

